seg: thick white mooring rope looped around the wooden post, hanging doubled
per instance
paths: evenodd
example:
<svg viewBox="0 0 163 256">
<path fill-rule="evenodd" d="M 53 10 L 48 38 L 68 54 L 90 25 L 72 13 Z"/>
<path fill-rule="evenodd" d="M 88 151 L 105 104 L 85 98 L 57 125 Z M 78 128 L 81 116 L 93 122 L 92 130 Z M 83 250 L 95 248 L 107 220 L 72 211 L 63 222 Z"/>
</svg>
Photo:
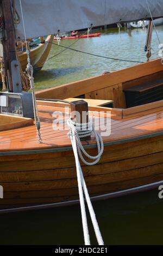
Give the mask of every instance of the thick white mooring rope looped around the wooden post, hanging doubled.
<svg viewBox="0 0 163 256">
<path fill-rule="evenodd" d="M 96 220 L 96 215 L 95 211 L 93 210 L 93 206 L 90 200 L 89 192 L 87 191 L 87 187 L 85 184 L 82 168 L 80 166 L 78 154 L 82 161 L 87 164 L 87 165 L 92 165 L 95 164 L 99 161 L 102 153 L 103 153 L 103 140 L 101 136 L 95 131 L 95 128 L 93 127 L 92 123 L 84 123 L 84 124 L 78 124 L 74 123 L 71 119 L 67 120 L 67 124 L 70 127 L 70 132 L 68 133 L 68 136 L 71 139 L 72 143 L 72 148 L 73 148 L 73 153 L 74 157 L 76 160 L 76 168 L 77 168 L 77 180 L 78 180 L 78 189 L 79 189 L 79 199 L 80 199 L 80 208 L 82 212 L 82 224 L 83 224 L 83 233 L 84 233 L 84 241 L 85 245 L 90 245 L 90 237 L 89 237 L 89 230 L 87 227 L 87 219 L 86 219 L 86 211 L 85 211 L 85 204 L 84 204 L 84 194 L 87 202 L 87 206 L 89 208 L 90 216 L 91 216 L 91 221 L 93 224 L 93 228 L 95 230 L 96 238 L 98 241 L 99 245 L 104 245 L 101 231 L 99 230 L 99 226 Z M 80 138 L 84 138 L 87 136 L 90 136 L 91 133 L 95 134 L 96 140 L 97 140 L 97 148 L 98 148 L 98 155 L 97 156 L 90 156 L 89 154 L 86 153 L 86 151 L 83 148 L 82 143 L 80 142 Z M 82 152 L 84 153 L 85 156 L 89 157 L 90 159 L 96 159 L 94 162 L 89 163 L 86 162 L 83 159 Z M 83 189 L 82 189 L 83 187 Z M 84 194 L 83 194 L 84 192 Z"/>
</svg>

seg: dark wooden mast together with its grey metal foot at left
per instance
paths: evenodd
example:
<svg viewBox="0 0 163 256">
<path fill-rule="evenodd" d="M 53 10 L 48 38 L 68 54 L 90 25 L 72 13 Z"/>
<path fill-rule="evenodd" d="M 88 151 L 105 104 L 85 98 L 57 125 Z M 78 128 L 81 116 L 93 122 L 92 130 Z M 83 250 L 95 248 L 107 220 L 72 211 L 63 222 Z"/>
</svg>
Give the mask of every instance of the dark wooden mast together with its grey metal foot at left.
<svg viewBox="0 0 163 256">
<path fill-rule="evenodd" d="M 15 30 L 10 0 L 0 0 L 0 40 L 3 43 L 4 74 L 8 92 L 0 93 L 0 113 L 33 118 L 32 94 L 22 92 L 20 62 L 17 60 Z"/>
</svg>

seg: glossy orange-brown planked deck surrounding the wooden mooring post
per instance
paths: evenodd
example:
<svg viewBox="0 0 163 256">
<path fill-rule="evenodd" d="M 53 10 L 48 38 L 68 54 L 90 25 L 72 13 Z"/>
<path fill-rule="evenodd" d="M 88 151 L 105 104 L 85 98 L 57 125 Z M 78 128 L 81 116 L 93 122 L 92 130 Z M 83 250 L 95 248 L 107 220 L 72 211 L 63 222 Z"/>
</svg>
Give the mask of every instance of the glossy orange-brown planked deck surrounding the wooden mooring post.
<svg viewBox="0 0 163 256">
<path fill-rule="evenodd" d="M 162 101 L 160 104 L 161 103 Z M 41 118 L 41 135 L 43 143 L 38 143 L 36 128 L 34 125 L 30 125 L 27 127 L 0 131 L 0 151 L 35 150 L 71 146 L 70 139 L 67 137 L 68 127 L 66 125 L 66 119 L 66 131 L 55 131 L 52 128 L 52 123 L 54 121 L 53 113 L 55 111 L 62 112 L 64 111 L 64 108 L 56 107 L 57 104 L 53 102 L 49 103 L 51 106 L 43 106 L 43 102 L 39 104 L 42 104 L 39 105 L 39 113 Z M 60 104 L 58 105 L 60 106 Z M 122 141 L 123 139 L 132 139 L 134 137 L 141 137 L 161 131 L 163 132 L 163 106 L 147 110 L 145 106 L 143 108 L 145 111 L 137 114 L 134 113 L 133 110 L 129 113 L 129 109 L 124 109 L 124 113 L 122 112 L 124 116 L 121 116 L 121 119 L 116 119 L 116 114 L 111 114 L 111 134 L 109 136 L 103 136 L 104 143 Z M 91 107 L 90 115 L 93 114 L 98 117 L 97 109 L 97 107 Z M 109 112 L 111 109 L 101 107 L 99 110 Z M 69 112 L 68 108 L 67 112 Z M 118 113 L 117 115 L 120 114 Z M 104 114 L 101 119 L 103 119 L 103 117 Z M 110 115 L 108 114 L 107 117 L 107 114 L 105 113 L 105 124 L 106 121 L 109 122 L 109 119 Z M 91 141 L 83 143 L 93 144 L 94 140 L 92 138 Z"/>
</svg>

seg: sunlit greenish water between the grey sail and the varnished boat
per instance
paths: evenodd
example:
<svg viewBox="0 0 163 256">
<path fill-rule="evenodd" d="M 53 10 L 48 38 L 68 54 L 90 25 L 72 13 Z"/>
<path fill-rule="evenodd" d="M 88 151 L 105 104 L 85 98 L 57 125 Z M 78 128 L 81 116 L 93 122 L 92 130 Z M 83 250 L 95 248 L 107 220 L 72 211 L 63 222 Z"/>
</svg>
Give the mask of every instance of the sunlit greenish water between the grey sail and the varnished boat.
<svg viewBox="0 0 163 256">
<path fill-rule="evenodd" d="M 162 28 L 163 26 L 156 27 L 160 42 L 163 42 Z M 61 45 L 68 47 L 74 41 L 76 39 L 62 40 Z M 97 38 L 79 39 L 71 48 L 106 57 L 145 62 L 145 41 L 146 33 L 143 29 L 131 29 L 130 32 L 122 29 L 120 38 L 117 28 L 114 28 L 103 31 L 102 35 Z M 56 41 L 54 42 L 57 44 Z M 158 57 L 158 45 L 158 39 L 153 31 L 151 59 Z M 63 50 L 64 48 L 53 45 L 49 58 Z M 35 86 L 37 90 L 54 87 L 100 75 L 104 71 L 113 71 L 131 65 L 134 65 L 134 63 L 117 62 L 115 60 L 66 50 L 45 63 L 43 69 L 35 75 Z"/>
</svg>

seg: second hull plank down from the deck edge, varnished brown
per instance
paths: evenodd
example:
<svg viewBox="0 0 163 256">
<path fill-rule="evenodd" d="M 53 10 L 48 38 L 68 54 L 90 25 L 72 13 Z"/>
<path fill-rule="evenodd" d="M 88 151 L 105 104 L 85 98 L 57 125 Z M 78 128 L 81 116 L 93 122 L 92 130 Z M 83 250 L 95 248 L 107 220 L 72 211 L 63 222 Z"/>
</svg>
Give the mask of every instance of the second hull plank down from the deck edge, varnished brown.
<svg viewBox="0 0 163 256">
<path fill-rule="evenodd" d="M 143 167 L 159 164 L 159 168 L 163 167 L 163 152 L 158 152 L 144 156 L 133 157 L 120 161 L 112 161 L 98 163 L 95 166 L 83 166 L 84 176 L 96 176 L 111 173 L 126 172 L 127 170 L 139 169 Z M 163 170 L 163 168 L 162 168 Z M 30 182 L 30 181 L 49 181 L 76 178 L 76 167 L 46 169 L 46 170 L 29 170 L 20 172 L 3 172 L 1 171 L 0 182 Z"/>
</svg>

